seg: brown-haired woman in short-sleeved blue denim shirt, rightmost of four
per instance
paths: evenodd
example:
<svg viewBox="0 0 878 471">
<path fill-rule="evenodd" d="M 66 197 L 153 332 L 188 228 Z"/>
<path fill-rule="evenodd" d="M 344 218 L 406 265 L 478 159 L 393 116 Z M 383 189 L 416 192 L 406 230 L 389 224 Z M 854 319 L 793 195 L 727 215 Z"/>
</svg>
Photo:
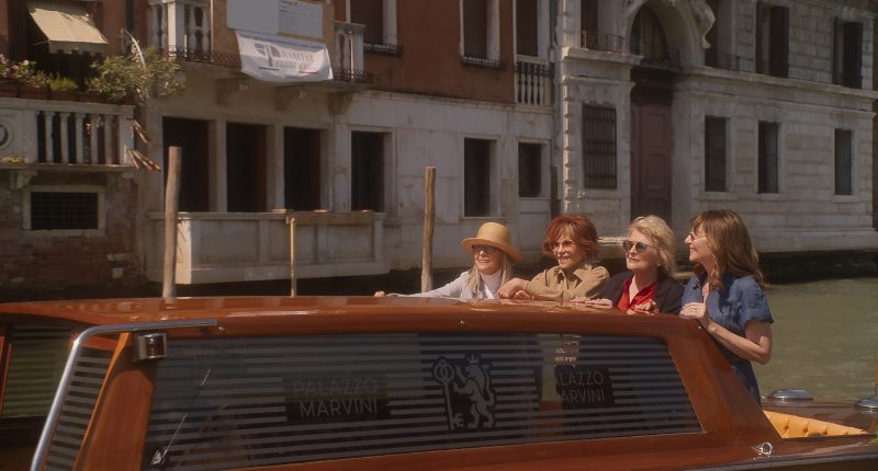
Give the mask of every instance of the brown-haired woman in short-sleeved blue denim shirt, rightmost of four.
<svg viewBox="0 0 878 471">
<path fill-rule="evenodd" d="M 774 319 L 756 250 L 734 211 L 701 211 L 690 226 L 686 245 L 695 276 L 686 283 L 680 317 L 698 320 L 758 403 L 751 361 L 765 365 L 772 359 Z"/>
</svg>

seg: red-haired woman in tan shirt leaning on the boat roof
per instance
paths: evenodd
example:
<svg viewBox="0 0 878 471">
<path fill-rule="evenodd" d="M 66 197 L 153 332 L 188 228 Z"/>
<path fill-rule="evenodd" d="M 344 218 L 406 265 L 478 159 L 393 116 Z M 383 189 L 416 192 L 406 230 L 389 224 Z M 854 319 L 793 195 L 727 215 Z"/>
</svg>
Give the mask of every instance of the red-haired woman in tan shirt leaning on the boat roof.
<svg viewBox="0 0 878 471">
<path fill-rule="evenodd" d="M 500 288 L 500 298 L 570 301 L 600 297 L 609 275 L 593 263 L 597 255 L 597 230 L 584 215 L 561 215 L 549 221 L 542 251 L 558 261 L 530 282 L 513 278 Z"/>
</svg>

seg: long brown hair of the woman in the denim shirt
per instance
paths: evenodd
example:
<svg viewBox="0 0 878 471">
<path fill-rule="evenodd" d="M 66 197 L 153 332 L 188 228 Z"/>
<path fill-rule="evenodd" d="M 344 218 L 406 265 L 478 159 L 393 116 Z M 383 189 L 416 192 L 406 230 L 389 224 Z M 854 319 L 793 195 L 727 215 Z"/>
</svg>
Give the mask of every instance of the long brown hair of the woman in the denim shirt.
<svg viewBox="0 0 878 471">
<path fill-rule="evenodd" d="M 731 209 L 701 211 L 691 219 L 693 233 L 699 230 L 707 238 L 713 259 L 713 271 L 707 274 L 712 286 L 722 287 L 722 275 L 752 276 L 763 288 L 767 286 L 759 269 L 759 256 L 753 246 L 747 227 L 741 216 Z M 695 266 L 695 273 L 705 274 L 705 267 Z"/>
</svg>

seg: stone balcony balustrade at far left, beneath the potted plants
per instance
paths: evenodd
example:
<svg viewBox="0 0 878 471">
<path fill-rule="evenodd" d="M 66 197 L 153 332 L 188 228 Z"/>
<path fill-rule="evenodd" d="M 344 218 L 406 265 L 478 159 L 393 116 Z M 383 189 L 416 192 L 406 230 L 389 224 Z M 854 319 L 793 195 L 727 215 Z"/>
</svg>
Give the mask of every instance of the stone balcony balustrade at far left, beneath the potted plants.
<svg viewBox="0 0 878 471">
<path fill-rule="evenodd" d="M 0 99 L 13 135 L 3 153 L 24 163 L 133 165 L 134 106 Z"/>
</svg>

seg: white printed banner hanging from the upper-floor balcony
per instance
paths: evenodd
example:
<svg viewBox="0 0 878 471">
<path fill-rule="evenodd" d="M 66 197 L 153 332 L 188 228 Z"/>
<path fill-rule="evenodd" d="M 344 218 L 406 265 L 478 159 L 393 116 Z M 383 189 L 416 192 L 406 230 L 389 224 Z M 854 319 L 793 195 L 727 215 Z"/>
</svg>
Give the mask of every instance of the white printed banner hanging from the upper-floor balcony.
<svg viewBox="0 0 878 471">
<path fill-rule="evenodd" d="M 244 73 L 269 82 L 333 80 L 325 44 L 244 31 L 236 32 Z"/>
</svg>

